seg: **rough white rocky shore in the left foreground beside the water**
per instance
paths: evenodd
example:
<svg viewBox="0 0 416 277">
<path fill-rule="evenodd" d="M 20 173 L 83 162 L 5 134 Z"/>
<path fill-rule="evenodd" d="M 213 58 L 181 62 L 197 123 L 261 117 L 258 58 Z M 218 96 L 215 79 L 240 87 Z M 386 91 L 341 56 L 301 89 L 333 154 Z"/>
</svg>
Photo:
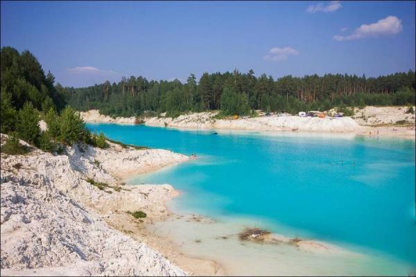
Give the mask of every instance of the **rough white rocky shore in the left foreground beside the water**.
<svg viewBox="0 0 416 277">
<path fill-rule="evenodd" d="M 1 134 L 2 143 L 6 138 Z M 171 214 L 166 202 L 177 195 L 172 186 L 119 181 L 126 172 L 188 159 L 112 143 L 108 150 L 76 145 L 56 156 L 35 148 L 26 155 L 2 153 L 1 275 L 223 274 L 216 262 L 185 256 L 146 228 Z M 136 219 L 128 214 L 133 211 L 147 217 Z"/>
</svg>

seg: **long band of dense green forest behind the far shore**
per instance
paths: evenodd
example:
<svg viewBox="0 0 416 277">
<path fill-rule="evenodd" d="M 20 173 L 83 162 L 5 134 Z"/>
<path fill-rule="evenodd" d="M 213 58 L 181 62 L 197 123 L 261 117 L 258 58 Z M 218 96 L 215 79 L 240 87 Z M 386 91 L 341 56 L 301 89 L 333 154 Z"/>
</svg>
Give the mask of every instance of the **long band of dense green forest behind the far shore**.
<svg viewBox="0 0 416 277">
<path fill-rule="evenodd" d="M 204 73 L 197 82 L 191 74 L 185 84 L 178 80 L 148 81 L 141 76 L 104 82 L 92 87 L 65 88 L 67 102 L 78 110 L 99 109 L 111 116 L 140 115 L 144 111 L 167 112 L 221 109 L 223 114 L 264 111 L 327 110 L 331 107 L 415 104 L 415 72 L 378 78 L 365 75 L 291 75 L 273 80 L 266 74 Z"/>
</svg>

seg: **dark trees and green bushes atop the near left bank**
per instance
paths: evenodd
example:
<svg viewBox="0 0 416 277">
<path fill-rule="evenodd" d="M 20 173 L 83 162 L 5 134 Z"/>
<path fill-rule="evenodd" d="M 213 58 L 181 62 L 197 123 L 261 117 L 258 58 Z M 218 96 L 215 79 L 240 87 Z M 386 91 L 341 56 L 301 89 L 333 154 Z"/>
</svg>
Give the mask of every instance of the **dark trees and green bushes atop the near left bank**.
<svg viewBox="0 0 416 277">
<path fill-rule="evenodd" d="M 62 152 L 64 145 L 78 142 L 107 146 L 103 135 L 91 134 L 79 114 L 65 107 L 66 90 L 54 86 L 55 77 L 50 72 L 45 75 L 31 52 L 19 53 L 15 48 L 3 47 L 0 61 L 0 132 L 10 135 L 1 146 L 2 153 L 28 152 L 17 139 L 53 153 Z M 48 126 L 44 132 L 40 130 L 41 119 Z"/>
</svg>

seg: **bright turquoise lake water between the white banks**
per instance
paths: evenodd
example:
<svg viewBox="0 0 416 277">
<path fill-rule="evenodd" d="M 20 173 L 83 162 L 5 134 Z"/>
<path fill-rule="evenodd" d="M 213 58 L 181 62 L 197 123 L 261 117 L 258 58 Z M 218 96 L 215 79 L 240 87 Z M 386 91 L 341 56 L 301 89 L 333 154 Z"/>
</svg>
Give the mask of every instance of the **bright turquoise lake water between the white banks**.
<svg viewBox="0 0 416 277">
<path fill-rule="evenodd" d="M 259 217 L 272 231 L 416 265 L 415 141 L 349 134 L 182 131 L 88 124 L 110 139 L 198 159 L 133 178 L 171 184 L 177 208 Z M 288 231 L 291 230 L 291 231 Z"/>
</svg>

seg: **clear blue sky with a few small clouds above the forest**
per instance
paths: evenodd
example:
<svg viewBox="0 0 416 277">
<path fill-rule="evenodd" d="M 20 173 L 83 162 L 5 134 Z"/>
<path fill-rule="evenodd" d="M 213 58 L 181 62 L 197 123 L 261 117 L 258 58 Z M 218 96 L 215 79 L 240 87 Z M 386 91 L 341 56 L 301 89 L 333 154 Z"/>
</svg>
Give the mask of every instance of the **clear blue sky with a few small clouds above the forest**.
<svg viewBox="0 0 416 277">
<path fill-rule="evenodd" d="M 415 70 L 415 1 L 1 1 L 1 46 L 57 82 Z"/>
</svg>

